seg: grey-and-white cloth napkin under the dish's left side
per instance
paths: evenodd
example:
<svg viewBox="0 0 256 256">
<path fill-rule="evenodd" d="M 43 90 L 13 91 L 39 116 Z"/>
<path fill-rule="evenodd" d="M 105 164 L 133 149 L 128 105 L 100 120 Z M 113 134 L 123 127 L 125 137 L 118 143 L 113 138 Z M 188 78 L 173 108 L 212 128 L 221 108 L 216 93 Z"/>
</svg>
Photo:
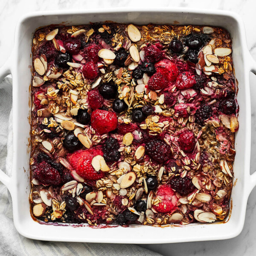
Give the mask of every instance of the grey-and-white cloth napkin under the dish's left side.
<svg viewBox="0 0 256 256">
<path fill-rule="evenodd" d="M 12 79 L 0 83 L 0 169 L 12 172 Z M 15 256 L 160 256 L 134 244 L 48 242 L 27 239 L 17 233 L 12 198 L 0 182 L 0 255 Z"/>
</svg>

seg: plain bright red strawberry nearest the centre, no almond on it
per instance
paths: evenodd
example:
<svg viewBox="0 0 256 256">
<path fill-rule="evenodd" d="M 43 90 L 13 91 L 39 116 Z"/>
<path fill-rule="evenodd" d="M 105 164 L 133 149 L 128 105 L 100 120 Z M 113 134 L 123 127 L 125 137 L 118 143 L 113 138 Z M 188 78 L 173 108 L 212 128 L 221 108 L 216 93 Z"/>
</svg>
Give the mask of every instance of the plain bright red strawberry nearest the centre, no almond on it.
<svg viewBox="0 0 256 256">
<path fill-rule="evenodd" d="M 113 131 L 117 128 L 116 113 L 96 109 L 91 115 L 91 125 L 99 134 L 104 134 Z"/>
</svg>

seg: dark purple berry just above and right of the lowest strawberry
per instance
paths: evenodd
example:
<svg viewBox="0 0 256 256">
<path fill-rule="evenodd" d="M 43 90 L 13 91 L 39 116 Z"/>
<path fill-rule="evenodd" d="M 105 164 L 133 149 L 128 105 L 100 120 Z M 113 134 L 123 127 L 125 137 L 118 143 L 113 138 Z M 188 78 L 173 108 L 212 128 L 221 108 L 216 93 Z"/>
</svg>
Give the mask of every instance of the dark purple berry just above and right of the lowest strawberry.
<svg viewBox="0 0 256 256">
<path fill-rule="evenodd" d="M 188 177 L 175 176 L 171 181 L 170 185 L 172 189 L 175 189 L 181 195 L 186 195 L 195 189 L 191 179 Z"/>
</svg>

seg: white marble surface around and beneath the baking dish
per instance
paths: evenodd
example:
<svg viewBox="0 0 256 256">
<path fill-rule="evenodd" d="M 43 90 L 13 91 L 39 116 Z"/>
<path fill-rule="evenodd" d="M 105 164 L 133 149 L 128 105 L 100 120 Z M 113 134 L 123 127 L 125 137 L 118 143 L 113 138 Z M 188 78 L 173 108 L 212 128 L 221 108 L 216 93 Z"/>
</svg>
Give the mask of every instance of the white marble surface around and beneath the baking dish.
<svg viewBox="0 0 256 256">
<path fill-rule="evenodd" d="M 221 9 L 239 13 L 246 28 L 247 44 L 256 60 L 256 1 L 255 0 L 0 0 L 0 66 L 8 58 L 13 46 L 15 24 L 24 13 L 111 7 L 162 6 L 194 9 Z M 250 75 L 252 99 L 252 151 L 251 173 L 256 170 L 256 77 Z M 196 236 L 196 234 L 195 234 Z M 230 240 L 193 242 L 183 244 L 142 245 L 165 256 L 250 256 L 256 255 L 256 189 L 247 203 L 247 213 L 242 233 Z"/>
</svg>

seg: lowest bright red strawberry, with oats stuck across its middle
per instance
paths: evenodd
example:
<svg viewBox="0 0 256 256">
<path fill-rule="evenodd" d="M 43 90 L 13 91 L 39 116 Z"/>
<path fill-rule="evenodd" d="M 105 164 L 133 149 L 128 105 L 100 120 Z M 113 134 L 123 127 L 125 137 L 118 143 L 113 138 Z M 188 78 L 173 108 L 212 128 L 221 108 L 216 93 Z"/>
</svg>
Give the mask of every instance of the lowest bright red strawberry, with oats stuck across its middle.
<svg viewBox="0 0 256 256">
<path fill-rule="evenodd" d="M 173 189 L 169 185 L 160 185 L 156 195 L 162 200 L 161 203 L 154 205 L 157 212 L 170 212 L 176 208 L 177 197 L 174 195 Z"/>
</svg>

